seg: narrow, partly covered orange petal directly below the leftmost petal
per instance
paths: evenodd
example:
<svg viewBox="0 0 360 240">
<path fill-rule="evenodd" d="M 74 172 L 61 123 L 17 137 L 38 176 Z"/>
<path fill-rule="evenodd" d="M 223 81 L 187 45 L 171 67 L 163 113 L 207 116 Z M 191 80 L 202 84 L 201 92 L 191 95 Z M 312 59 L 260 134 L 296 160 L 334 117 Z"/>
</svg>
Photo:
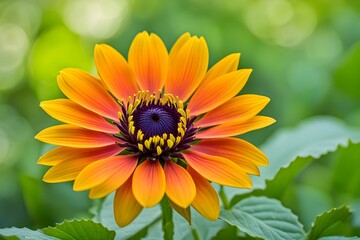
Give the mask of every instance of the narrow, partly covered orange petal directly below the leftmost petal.
<svg viewBox="0 0 360 240">
<path fill-rule="evenodd" d="M 109 145 L 99 148 L 69 148 L 69 147 L 58 147 L 51 149 L 49 152 L 44 154 L 39 160 L 38 164 L 46 166 L 54 166 L 60 162 L 65 161 L 77 161 L 87 159 L 99 160 L 107 157 L 114 156 L 120 153 L 123 148 L 118 145 Z"/>
</svg>

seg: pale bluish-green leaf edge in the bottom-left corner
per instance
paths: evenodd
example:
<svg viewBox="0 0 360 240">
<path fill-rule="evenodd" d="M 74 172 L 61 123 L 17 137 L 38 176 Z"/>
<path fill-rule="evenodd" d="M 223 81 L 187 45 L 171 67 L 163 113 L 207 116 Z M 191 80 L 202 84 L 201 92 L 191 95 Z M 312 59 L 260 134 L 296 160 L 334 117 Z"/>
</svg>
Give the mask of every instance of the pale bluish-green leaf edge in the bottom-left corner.
<svg viewBox="0 0 360 240">
<path fill-rule="evenodd" d="M 41 230 L 31 230 L 28 228 L 3 228 L 0 229 L 0 236 L 4 237 L 5 239 L 21 239 L 21 240 L 55 240 L 57 238 L 50 237 Z"/>
</svg>

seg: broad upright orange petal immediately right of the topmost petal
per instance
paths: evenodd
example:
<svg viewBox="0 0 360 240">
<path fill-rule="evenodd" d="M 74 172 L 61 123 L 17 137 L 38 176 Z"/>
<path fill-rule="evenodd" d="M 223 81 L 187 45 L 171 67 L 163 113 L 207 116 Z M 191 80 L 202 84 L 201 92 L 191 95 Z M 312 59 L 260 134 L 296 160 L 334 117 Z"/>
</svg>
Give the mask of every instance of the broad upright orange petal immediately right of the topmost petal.
<svg viewBox="0 0 360 240">
<path fill-rule="evenodd" d="M 209 52 L 203 37 L 192 37 L 177 51 L 171 52 L 165 90 L 185 102 L 205 76 Z"/>
</svg>

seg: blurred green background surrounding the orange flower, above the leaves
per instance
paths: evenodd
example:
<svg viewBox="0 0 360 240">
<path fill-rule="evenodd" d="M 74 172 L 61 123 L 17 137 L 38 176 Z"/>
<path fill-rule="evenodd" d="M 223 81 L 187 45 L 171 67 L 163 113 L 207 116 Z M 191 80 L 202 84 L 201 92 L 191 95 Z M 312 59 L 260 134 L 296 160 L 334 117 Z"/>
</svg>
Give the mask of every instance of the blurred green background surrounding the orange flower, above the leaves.
<svg viewBox="0 0 360 240">
<path fill-rule="evenodd" d="M 357 0 L 0 0 L 0 228 L 91 216 L 86 192 L 41 181 L 48 168 L 36 162 L 51 146 L 34 135 L 57 124 L 39 102 L 62 96 L 62 68 L 96 74 L 96 43 L 126 56 L 140 31 L 157 33 L 168 48 L 189 31 L 207 40 L 210 65 L 241 52 L 240 67 L 254 69 L 243 93 L 269 96 L 263 114 L 277 119 L 245 136 L 259 145 L 314 115 L 360 126 L 359 26 Z M 305 183 L 336 166 L 311 167 Z"/>
</svg>

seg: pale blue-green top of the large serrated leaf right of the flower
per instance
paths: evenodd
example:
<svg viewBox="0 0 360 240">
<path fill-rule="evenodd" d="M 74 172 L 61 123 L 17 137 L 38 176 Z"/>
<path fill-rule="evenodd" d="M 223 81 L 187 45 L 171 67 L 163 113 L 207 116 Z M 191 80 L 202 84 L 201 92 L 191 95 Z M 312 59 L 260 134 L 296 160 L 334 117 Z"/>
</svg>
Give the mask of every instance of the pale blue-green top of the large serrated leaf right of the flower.
<svg viewBox="0 0 360 240">
<path fill-rule="evenodd" d="M 273 179 L 281 167 L 289 166 L 297 157 L 317 159 L 338 146 L 347 147 L 349 140 L 360 142 L 360 129 L 333 117 L 310 118 L 295 129 L 280 130 L 262 146 L 270 164 L 261 169 L 261 175 Z"/>
</svg>

